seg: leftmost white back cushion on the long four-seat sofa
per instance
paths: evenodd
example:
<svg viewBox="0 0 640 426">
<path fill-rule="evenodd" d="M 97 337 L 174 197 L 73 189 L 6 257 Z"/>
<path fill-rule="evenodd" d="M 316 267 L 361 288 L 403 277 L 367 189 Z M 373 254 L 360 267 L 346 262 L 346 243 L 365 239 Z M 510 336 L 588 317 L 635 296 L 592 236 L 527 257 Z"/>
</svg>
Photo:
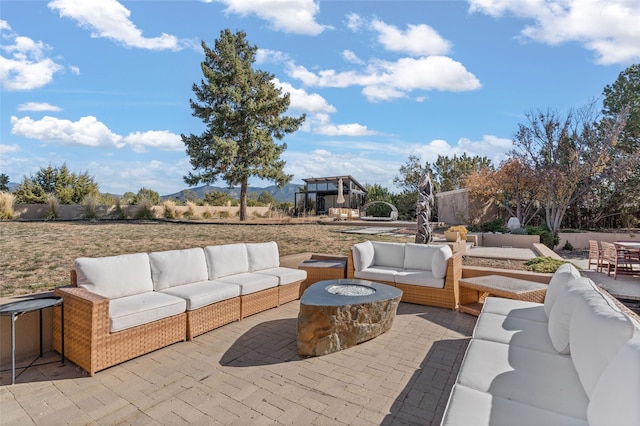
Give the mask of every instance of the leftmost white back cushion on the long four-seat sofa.
<svg viewBox="0 0 640 426">
<path fill-rule="evenodd" d="M 75 260 L 78 287 L 108 299 L 153 291 L 147 253 Z"/>
</svg>

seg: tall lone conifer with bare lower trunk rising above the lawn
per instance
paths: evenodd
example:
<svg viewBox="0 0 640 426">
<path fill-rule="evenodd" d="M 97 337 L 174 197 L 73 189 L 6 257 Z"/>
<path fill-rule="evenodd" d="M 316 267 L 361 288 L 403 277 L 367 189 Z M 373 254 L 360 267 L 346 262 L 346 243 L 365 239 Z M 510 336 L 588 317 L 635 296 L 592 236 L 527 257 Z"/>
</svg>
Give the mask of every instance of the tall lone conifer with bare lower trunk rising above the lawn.
<svg viewBox="0 0 640 426">
<path fill-rule="evenodd" d="M 253 69 L 257 47 L 248 43 L 244 32 L 223 30 L 213 49 L 204 41 L 202 49 L 204 80 L 193 84 L 196 100 L 189 102 L 193 116 L 205 123 L 206 130 L 200 136 L 181 135 L 194 169 L 184 179 L 196 185 L 221 177 L 229 187 L 240 185 L 240 220 L 244 221 L 250 177 L 271 180 L 280 187 L 291 181 L 280 159 L 287 145 L 274 138 L 282 140 L 295 132 L 306 117 L 283 115 L 290 96 L 275 86 L 274 75 Z"/>
</svg>

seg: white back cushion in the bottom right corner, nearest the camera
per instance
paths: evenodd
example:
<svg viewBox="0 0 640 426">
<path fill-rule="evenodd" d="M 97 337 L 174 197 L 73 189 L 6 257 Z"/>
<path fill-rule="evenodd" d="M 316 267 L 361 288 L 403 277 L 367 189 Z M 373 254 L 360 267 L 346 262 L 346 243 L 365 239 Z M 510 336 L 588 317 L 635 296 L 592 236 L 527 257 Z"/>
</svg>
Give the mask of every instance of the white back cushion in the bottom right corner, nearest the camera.
<svg viewBox="0 0 640 426">
<path fill-rule="evenodd" d="M 635 334 L 593 389 L 587 409 L 590 425 L 640 425 L 640 330 Z"/>
</svg>

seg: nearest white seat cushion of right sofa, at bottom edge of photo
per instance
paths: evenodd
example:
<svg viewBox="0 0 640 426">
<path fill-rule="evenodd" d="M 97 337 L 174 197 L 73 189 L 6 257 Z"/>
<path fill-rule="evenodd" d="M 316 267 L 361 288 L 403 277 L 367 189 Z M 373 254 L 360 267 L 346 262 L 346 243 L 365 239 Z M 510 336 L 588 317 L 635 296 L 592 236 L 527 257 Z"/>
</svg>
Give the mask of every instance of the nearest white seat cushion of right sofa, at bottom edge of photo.
<svg viewBox="0 0 640 426">
<path fill-rule="evenodd" d="M 454 385 L 442 425 L 586 426 L 587 421 L 582 417 L 569 417 L 466 386 Z"/>
</svg>

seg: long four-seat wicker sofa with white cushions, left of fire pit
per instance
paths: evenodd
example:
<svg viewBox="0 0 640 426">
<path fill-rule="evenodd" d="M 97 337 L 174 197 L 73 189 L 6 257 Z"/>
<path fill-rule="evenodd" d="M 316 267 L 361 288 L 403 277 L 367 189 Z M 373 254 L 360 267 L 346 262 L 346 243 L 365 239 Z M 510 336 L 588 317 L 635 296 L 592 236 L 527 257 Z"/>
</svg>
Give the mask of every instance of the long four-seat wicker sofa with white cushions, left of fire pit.
<svg viewBox="0 0 640 426">
<path fill-rule="evenodd" d="M 275 242 L 78 258 L 64 299 L 65 356 L 90 375 L 300 297 L 303 270 Z M 61 351 L 59 312 L 53 346 Z"/>
</svg>

